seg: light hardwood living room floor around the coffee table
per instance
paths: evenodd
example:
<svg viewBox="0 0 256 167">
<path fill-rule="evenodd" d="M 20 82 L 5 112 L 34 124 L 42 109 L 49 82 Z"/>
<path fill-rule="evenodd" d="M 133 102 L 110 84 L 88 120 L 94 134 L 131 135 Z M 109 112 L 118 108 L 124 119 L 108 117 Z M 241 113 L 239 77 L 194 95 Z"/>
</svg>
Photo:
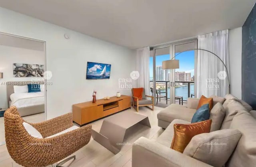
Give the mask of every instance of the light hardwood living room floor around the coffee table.
<svg viewBox="0 0 256 167">
<path fill-rule="evenodd" d="M 64 164 L 65 167 L 131 167 L 132 166 L 132 143 L 140 137 L 146 137 L 155 140 L 162 132 L 163 129 L 157 125 L 157 113 L 163 108 L 155 107 L 154 111 L 147 107 L 140 107 L 139 114 L 147 115 L 150 120 L 151 128 L 144 125 L 136 125 L 125 136 L 124 145 L 118 154 L 113 154 L 108 149 L 94 141 L 92 138 L 90 142 L 76 151 L 72 155 L 76 155 L 76 159 L 72 164 L 70 161 Z M 135 109 L 127 109 L 122 112 L 136 112 Z M 117 113 L 118 114 L 118 113 Z M 113 115 L 112 115 L 113 116 Z M 100 119 L 92 123 L 92 128 L 100 131 L 102 121 Z M 8 154 L 6 145 L 0 146 L 0 166 L 3 167 L 18 167 L 10 155 Z"/>
</svg>

